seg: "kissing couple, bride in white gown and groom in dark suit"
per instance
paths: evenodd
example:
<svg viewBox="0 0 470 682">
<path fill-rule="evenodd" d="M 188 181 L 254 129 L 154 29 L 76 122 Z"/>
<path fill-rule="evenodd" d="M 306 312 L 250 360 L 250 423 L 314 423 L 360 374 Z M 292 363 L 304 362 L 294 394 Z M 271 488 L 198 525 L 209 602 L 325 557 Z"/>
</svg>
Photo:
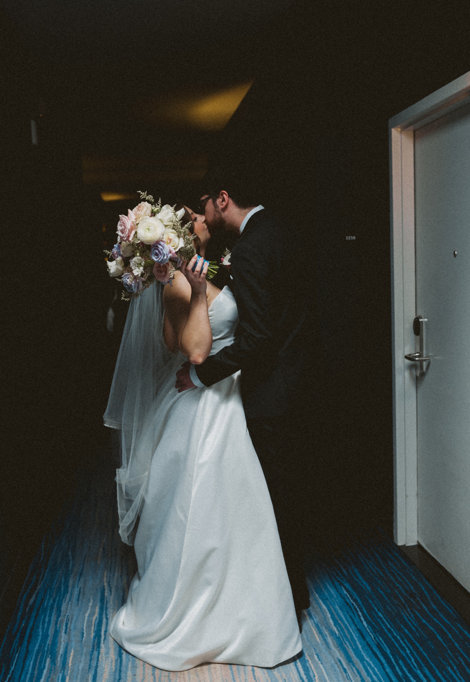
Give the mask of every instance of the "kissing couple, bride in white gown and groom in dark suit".
<svg viewBox="0 0 470 682">
<path fill-rule="evenodd" d="M 312 304 L 292 228 L 235 173 L 203 183 L 193 231 L 201 256 L 211 233 L 239 235 L 230 284 L 208 282 L 195 256 L 171 284 L 132 301 L 120 357 L 130 338 L 140 338 L 147 367 L 159 348 L 156 395 L 138 419 L 128 410 L 116 424 L 111 395 L 105 415 L 121 428 L 121 537 L 131 544 L 134 533 L 138 563 L 110 634 L 166 670 L 272 667 L 300 653 L 309 607 L 301 464 Z M 112 394 L 127 391 L 114 383 Z M 123 478 L 131 485 L 120 489 Z"/>
</svg>

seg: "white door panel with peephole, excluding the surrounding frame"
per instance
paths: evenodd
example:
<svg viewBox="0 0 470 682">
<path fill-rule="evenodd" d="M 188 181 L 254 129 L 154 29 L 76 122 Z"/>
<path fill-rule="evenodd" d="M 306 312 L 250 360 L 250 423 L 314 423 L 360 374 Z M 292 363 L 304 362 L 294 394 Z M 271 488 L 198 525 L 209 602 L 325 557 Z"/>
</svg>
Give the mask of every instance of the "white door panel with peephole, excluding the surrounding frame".
<svg viewBox="0 0 470 682">
<path fill-rule="evenodd" d="M 414 137 L 418 542 L 470 590 L 470 105 Z"/>
</svg>

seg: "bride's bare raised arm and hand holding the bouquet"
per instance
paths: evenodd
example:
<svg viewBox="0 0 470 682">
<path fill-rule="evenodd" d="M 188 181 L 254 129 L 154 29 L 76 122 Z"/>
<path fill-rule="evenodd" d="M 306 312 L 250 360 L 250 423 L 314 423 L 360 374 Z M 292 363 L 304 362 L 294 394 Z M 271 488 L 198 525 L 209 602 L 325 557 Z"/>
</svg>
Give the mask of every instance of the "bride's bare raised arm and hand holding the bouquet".
<svg viewBox="0 0 470 682">
<path fill-rule="evenodd" d="M 198 265 L 193 273 L 194 262 L 195 258 L 175 273 L 172 286 L 166 284 L 163 304 L 181 353 L 191 364 L 200 365 L 212 348 L 212 330 L 207 308 L 207 265 L 203 269 Z"/>
</svg>

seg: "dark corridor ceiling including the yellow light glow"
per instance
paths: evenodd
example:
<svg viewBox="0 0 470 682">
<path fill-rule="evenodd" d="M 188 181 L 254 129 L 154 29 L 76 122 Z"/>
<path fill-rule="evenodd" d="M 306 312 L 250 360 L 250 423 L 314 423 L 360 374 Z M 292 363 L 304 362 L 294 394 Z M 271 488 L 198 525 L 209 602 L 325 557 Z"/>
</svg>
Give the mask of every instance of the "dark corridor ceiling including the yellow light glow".
<svg viewBox="0 0 470 682">
<path fill-rule="evenodd" d="M 84 184 L 108 197 L 197 183 L 266 61 L 257 35 L 291 4 L 0 0 L 40 64 L 44 130 L 74 129 Z"/>
</svg>

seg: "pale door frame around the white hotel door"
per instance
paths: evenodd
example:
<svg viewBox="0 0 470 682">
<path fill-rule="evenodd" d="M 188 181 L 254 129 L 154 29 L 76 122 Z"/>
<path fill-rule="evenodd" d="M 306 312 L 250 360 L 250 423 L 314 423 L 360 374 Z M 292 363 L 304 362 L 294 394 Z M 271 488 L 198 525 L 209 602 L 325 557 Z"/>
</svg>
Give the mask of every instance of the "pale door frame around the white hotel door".
<svg viewBox="0 0 470 682">
<path fill-rule="evenodd" d="M 470 71 L 388 122 L 390 257 L 392 265 L 392 372 L 394 540 L 418 542 L 416 379 L 405 353 L 415 352 L 416 311 L 414 131 L 470 102 Z M 419 312 L 419 311 L 418 311 Z"/>
</svg>

